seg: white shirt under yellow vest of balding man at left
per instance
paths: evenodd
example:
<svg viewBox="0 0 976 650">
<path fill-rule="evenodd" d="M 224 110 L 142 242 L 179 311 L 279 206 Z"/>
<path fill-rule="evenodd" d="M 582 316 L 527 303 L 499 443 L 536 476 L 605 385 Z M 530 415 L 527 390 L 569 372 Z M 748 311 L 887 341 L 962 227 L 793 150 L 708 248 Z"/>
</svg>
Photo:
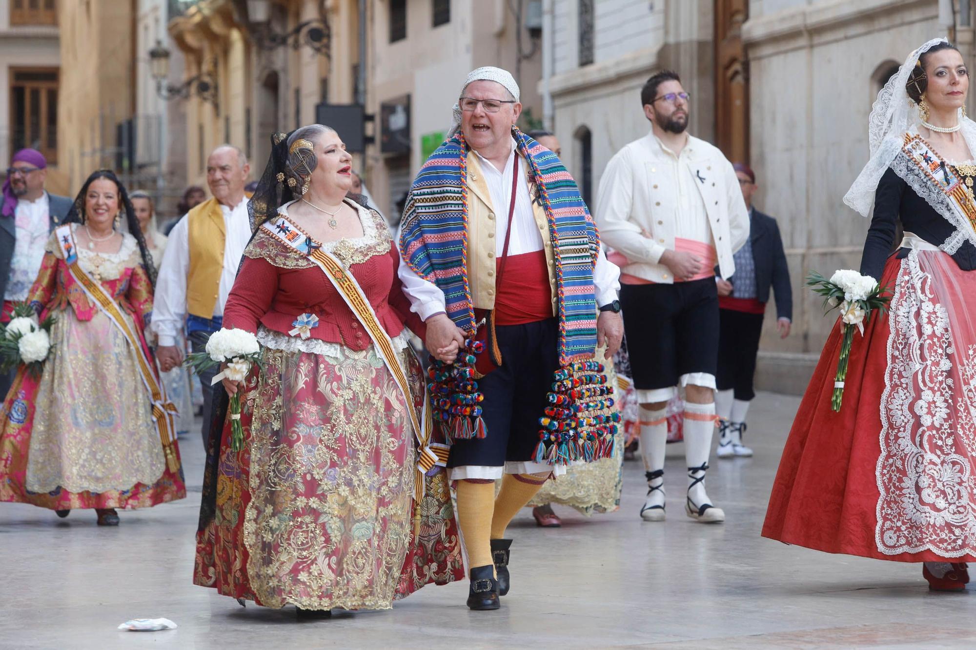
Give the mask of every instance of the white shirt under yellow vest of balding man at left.
<svg viewBox="0 0 976 650">
<path fill-rule="evenodd" d="M 233 208 L 221 204 L 224 214 L 224 268 L 214 315 L 224 315 L 224 305 L 230 288 L 234 286 L 237 266 L 251 240 L 251 221 L 247 212 L 247 197 Z M 189 226 L 186 215 L 173 226 L 156 279 L 153 299 L 152 329 L 159 336 L 159 345 L 177 345 L 186 319 L 186 273 L 189 272 Z"/>
</svg>

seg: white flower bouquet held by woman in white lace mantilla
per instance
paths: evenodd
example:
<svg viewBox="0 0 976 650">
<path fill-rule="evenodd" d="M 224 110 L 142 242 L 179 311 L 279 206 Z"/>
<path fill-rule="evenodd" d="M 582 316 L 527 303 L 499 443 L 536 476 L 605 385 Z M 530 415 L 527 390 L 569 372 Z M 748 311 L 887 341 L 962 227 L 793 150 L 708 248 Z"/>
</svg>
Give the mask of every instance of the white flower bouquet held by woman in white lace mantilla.
<svg viewBox="0 0 976 650">
<path fill-rule="evenodd" d="M 891 298 L 883 295 L 888 293 L 888 288 L 882 289 L 873 277 L 849 269 L 834 271 L 830 280 L 817 271 L 811 271 L 806 276 L 806 284 L 824 297 L 825 313 L 840 308 L 840 326 L 844 335 L 840 345 L 840 358 L 837 359 L 837 373 L 834 376 L 834 396 L 831 399 L 831 409 L 836 412 L 840 410 L 843 399 L 854 330 L 858 330 L 863 337 L 865 323 L 871 321 L 875 312 L 884 313 Z"/>
</svg>

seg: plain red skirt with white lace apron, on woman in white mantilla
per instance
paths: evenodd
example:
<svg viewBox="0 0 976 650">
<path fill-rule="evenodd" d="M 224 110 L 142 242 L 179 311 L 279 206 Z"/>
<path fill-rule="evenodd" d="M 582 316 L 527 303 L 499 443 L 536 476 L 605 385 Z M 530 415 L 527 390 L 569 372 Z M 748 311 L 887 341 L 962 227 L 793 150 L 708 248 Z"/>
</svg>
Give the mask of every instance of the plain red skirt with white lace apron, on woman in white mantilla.
<svg viewBox="0 0 976 650">
<path fill-rule="evenodd" d="M 824 346 L 787 440 L 763 537 L 902 562 L 976 561 L 976 272 L 938 251 L 885 265 L 888 313 Z"/>
</svg>

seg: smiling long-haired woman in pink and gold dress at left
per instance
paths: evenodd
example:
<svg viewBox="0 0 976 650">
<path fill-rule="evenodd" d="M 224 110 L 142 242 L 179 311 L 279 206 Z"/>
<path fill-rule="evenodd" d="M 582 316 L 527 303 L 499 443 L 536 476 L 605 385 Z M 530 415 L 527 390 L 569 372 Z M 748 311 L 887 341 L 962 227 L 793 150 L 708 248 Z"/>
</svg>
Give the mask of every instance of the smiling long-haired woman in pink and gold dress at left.
<svg viewBox="0 0 976 650">
<path fill-rule="evenodd" d="M 66 222 L 28 296 L 41 319 L 56 318 L 51 352 L 39 378 L 21 367 L 0 413 L 0 501 L 61 517 L 95 508 L 100 526 L 115 526 L 116 508 L 186 496 L 172 405 L 143 335 L 156 271 L 112 172 L 88 178 Z"/>
</svg>

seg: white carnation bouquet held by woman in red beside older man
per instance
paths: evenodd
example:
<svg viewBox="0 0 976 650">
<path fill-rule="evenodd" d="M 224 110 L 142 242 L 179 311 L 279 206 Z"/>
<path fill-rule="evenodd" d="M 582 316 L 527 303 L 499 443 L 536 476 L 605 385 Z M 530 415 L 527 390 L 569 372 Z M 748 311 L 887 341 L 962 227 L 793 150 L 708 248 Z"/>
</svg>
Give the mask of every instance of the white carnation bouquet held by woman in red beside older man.
<svg viewBox="0 0 976 650">
<path fill-rule="evenodd" d="M 246 330 L 223 328 L 210 335 L 206 352 L 187 354 L 185 363 L 197 374 L 225 363 L 226 367 L 214 377 L 211 386 L 224 378 L 243 382 L 252 365 L 261 367 L 261 345 L 258 345 L 258 338 Z M 244 448 L 240 391 L 230 396 L 230 432 L 230 449 L 240 451 Z"/>
</svg>

